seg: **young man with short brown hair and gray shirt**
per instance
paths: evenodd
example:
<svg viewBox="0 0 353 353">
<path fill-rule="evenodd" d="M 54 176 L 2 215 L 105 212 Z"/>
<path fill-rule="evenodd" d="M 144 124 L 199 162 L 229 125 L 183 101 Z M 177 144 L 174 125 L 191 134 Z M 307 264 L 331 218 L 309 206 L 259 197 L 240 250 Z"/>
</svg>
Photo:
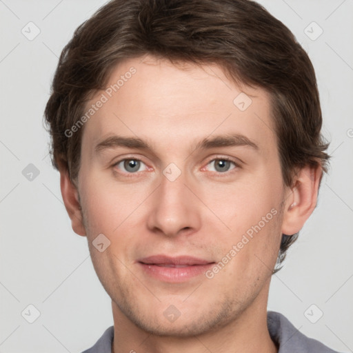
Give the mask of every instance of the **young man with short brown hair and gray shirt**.
<svg viewBox="0 0 353 353">
<path fill-rule="evenodd" d="M 86 353 L 334 352 L 267 312 L 329 158 L 283 23 L 248 0 L 111 1 L 64 48 L 46 121 L 112 299 Z"/>
</svg>

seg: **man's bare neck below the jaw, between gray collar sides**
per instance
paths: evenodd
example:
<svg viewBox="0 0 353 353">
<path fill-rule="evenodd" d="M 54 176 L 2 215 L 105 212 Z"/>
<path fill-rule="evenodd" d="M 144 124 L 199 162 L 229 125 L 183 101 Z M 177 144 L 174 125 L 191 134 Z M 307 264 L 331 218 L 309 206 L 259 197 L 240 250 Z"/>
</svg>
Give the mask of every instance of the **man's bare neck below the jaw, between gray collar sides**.
<svg viewBox="0 0 353 353">
<path fill-rule="evenodd" d="M 112 302 L 114 317 L 113 353 L 277 353 L 278 347 L 268 332 L 266 298 L 256 298 L 246 310 L 222 327 L 197 336 L 161 336 L 142 330 Z"/>
</svg>

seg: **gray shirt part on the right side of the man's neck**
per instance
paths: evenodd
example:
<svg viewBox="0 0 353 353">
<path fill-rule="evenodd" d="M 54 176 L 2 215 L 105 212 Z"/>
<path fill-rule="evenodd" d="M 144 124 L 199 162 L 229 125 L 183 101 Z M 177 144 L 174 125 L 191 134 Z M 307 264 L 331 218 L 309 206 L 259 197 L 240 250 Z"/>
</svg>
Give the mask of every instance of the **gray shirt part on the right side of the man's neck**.
<svg viewBox="0 0 353 353">
<path fill-rule="evenodd" d="M 268 331 L 272 340 L 279 345 L 278 353 L 339 353 L 299 332 L 279 312 L 268 312 Z"/>
</svg>

